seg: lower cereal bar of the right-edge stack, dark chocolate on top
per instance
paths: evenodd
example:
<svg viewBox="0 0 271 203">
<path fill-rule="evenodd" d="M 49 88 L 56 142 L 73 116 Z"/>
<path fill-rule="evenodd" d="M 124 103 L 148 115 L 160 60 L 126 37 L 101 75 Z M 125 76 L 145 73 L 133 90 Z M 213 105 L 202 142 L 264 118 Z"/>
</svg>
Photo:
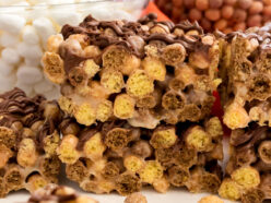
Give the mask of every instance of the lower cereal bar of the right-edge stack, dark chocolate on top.
<svg viewBox="0 0 271 203">
<path fill-rule="evenodd" d="M 271 129 L 256 122 L 231 136 L 231 158 L 219 193 L 222 198 L 261 203 L 271 200 Z"/>
</svg>

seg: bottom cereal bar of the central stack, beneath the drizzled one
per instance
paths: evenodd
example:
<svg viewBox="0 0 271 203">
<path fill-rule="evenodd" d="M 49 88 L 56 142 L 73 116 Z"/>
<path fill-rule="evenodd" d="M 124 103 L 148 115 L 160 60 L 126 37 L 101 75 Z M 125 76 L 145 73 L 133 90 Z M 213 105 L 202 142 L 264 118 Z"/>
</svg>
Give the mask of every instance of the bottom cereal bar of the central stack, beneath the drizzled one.
<svg viewBox="0 0 271 203">
<path fill-rule="evenodd" d="M 85 191 L 129 195 L 146 184 L 162 193 L 169 186 L 213 193 L 220 188 L 223 130 L 216 117 L 154 130 L 123 120 L 84 127 L 64 119 L 60 129 L 59 158 L 67 177 Z"/>
</svg>

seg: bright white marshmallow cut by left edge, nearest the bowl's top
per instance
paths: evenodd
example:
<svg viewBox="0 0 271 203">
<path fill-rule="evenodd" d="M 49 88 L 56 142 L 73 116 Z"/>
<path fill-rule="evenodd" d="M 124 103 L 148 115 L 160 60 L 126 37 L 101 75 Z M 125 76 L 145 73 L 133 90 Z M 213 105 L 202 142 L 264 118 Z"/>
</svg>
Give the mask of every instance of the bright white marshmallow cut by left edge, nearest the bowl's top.
<svg viewBox="0 0 271 203">
<path fill-rule="evenodd" d="M 0 14 L 0 29 L 19 34 L 25 25 L 25 19 L 15 14 Z"/>
</svg>

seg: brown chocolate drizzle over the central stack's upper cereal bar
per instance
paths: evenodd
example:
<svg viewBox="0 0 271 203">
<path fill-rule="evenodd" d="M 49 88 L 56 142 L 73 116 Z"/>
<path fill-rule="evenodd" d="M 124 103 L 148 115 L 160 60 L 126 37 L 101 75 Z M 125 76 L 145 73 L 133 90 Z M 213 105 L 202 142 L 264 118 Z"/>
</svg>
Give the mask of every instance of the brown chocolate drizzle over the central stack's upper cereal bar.
<svg viewBox="0 0 271 203">
<path fill-rule="evenodd" d="M 143 46 L 151 40 L 161 40 L 167 45 L 177 43 L 181 44 L 188 51 L 193 51 L 198 48 L 207 50 L 209 48 L 209 46 L 201 41 L 201 37 L 199 36 L 176 37 L 172 34 L 151 34 L 144 27 L 153 27 L 158 24 L 167 26 L 170 32 L 174 32 L 175 28 L 181 28 L 185 32 L 196 29 L 200 35 L 203 34 L 203 29 L 198 23 L 192 24 L 185 21 L 175 25 L 172 22 L 158 22 L 156 14 L 149 14 L 140 19 L 138 22 L 96 21 L 92 17 L 92 15 L 89 15 L 79 26 L 64 25 L 61 33 L 64 39 L 69 38 L 69 36 L 73 34 L 86 35 L 89 37 L 87 41 L 90 41 L 91 45 L 98 46 L 101 49 L 105 49 L 110 45 L 123 46 L 129 52 L 139 58 L 143 58 L 145 56 L 142 45 L 138 45 L 139 41 L 140 44 L 143 44 Z M 106 34 L 105 31 L 107 28 L 110 28 L 114 32 L 114 35 Z M 140 40 L 134 39 L 136 36 L 140 38 Z M 66 55 L 69 56 L 61 57 L 64 60 L 64 69 L 67 72 L 69 72 L 72 68 L 78 67 L 81 61 L 85 60 L 85 58 L 74 52 L 66 52 Z"/>
</svg>

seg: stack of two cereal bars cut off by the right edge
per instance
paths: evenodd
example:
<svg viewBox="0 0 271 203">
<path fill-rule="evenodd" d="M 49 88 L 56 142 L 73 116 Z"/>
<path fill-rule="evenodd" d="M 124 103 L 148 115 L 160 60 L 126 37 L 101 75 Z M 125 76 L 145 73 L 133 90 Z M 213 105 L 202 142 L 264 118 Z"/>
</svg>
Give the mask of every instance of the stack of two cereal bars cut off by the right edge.
<svg viewBox="0 0 271 203">
<path fill-rule="evenodd" d="M 233 131 L 220 195 L 245 203 L 271 199 L 270 31 L 232 33 L 222 43 L 223 120 Z"/>
</svg>

